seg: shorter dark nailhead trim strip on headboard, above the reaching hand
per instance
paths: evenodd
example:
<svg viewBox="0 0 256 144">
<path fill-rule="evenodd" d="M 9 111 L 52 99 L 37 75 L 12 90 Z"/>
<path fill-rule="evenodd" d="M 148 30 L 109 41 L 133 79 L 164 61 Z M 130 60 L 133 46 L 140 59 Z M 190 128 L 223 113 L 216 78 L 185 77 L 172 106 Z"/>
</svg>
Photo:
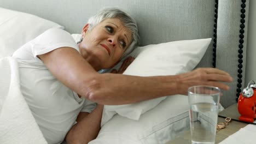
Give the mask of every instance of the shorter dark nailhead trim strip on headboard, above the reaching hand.
<svg viewBox="0 0 256 144">
<path fill-rule="evenodd" d="M 214 14 L 214 29 L 213 29 L 213 58 L 212 58 L 212 67 L 215 68 L 216 67 L 216 44 L 217 44 L 217 21 L 218 21 L 218 0 L 215 1 L 215 14 Z"/>
</svg>

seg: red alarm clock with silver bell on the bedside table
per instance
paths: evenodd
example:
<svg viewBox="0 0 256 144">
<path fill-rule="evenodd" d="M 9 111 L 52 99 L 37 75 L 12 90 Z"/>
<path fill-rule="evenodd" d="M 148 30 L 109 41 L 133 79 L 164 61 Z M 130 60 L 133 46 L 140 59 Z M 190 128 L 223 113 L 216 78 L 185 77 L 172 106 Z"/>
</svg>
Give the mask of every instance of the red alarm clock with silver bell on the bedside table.
<svg viewBox="0 0 256 144">
<path fill-rule="evenodd" d="M 243 89 L 238 98 L 237 109 L 241 115 L 240 121 L 254 122 L 256 118 L 256 84 L 254 81 L 250 81 Z"/>
</svg>

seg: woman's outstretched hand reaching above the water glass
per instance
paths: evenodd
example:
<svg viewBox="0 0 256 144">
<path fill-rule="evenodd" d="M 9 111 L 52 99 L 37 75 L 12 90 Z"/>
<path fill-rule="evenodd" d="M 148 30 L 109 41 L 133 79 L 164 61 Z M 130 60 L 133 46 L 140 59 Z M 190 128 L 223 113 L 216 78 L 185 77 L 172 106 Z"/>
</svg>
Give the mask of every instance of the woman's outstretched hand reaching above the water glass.
<svg viewBox="0 0 256 144">
<path fill-rule="evenodd" d="M 232 77 L 225 71 L 216 68 L 197 68 L 189 73 L 178 75 L 177 80 L 181 82 L 180 93 L 187 95 L 188 88 L 197 85 L 214 86 L 229 90 L 229 86 L 223 82 L 231 82 Z"/>
</svg>

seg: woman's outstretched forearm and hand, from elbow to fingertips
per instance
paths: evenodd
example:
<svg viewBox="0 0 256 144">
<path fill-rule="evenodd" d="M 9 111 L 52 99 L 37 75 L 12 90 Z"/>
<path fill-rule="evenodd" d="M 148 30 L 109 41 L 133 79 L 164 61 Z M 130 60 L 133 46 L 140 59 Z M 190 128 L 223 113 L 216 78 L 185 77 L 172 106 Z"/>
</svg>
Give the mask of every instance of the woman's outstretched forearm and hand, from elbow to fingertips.
<svg viewBox="0 0 256 144">
<path fill-rule="evenodd" d="M 199 68 L 189 73 L 171 76 L 129 76 L 102 74 L 100 82 L 90 87 L 89 99 L 102 104 L 129 104 L 165 95 L 188 94 L 195 85 L 216 86 L 225 90 L 224 82 L 232 81 L 228 73 L 214 68 Z M 103 93 L 104 92 L 104 93 Z"/>
</svg>

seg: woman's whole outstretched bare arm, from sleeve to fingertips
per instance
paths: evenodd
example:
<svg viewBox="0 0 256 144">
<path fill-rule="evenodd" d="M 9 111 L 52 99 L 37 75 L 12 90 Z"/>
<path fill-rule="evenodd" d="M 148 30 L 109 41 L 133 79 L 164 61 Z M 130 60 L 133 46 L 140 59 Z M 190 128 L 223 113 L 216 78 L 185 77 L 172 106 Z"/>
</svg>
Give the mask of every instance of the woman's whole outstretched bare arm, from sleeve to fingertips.
<svg viewBox="0 0 256 144">
<path fill-rule="evenodd" d="M 98 74 L 78 51 L 70 47 L 62 47 L 38 57 L 57 79 L 74 92 L 107 105 L 129 104 L 173 94 L 187 95 L 188 87 L 195 85 L 228 90 L 229 87 L 220 81 L 232 81 L 228 73 L 214 68 L 200 68 L 170 76 Z"/>
</svg>

